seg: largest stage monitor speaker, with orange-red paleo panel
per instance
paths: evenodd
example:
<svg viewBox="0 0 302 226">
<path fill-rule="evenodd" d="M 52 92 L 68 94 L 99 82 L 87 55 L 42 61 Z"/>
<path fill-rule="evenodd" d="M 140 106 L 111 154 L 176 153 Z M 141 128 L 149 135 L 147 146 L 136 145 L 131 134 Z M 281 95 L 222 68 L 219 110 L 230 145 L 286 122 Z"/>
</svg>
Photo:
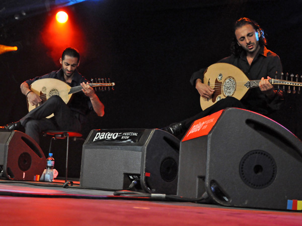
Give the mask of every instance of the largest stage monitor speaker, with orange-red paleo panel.
<svg viewBox="0 0 302 226">
<path fill-rule="evenodd" d="M 179 196 L 207 194 L 224 206 L 283 210 L 302 200 L 301 141 L 252 111 L 226 108 L 195 121 L 179 161 Z"/>
</svg>

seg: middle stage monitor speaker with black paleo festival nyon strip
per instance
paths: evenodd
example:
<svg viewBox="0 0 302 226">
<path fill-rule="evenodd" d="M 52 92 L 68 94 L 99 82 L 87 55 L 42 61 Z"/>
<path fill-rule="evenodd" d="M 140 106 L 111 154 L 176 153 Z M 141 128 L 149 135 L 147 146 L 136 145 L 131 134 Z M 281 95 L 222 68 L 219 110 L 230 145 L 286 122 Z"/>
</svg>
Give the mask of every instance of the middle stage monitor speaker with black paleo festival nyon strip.
<svg viewBox="0 0 302 226">
<path fill-rule="evenodd" d="M 80 185 L 176 194 L 180 140 L 157 129 L 92 130 L 83 145 Z"/>
</svg>

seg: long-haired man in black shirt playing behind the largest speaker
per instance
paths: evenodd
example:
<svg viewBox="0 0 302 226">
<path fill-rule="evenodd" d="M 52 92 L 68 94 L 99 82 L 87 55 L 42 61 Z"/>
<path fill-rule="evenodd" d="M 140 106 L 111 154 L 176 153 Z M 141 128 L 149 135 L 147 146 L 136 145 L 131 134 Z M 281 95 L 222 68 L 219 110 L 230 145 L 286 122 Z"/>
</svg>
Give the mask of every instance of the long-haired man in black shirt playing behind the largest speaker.
<svg viewBox="0 0 302 226">
<path fill-rule="evenodd" d="M 234 38 L 231 44 L 232 55 L 218 63 L 229 63 L 240 68 L 250 80 L 261 80 L 259 88 L 249 90 L 247 95 L 238 100 L 228 96 L 219 100 L 214 105 L 201 111 L 199 114 L 186 119 L 180 123 L 171 124 L 163 130 L 178 136 L 186 132 L 191 124 L 198 119 L 224 109 L 226 107 L 239 107 L 269 115 L 280 108 L 283 93 L 275 90 L 269 82 L 277 72 L 278 77 L 282 73 L 282 66 L 278 55 L 266 47 L 264 31 L 260 26 L 249 18 L 241 18 L 234 26 Z M 210 98 L 214 89 L 203 83 L 205 69 L 193 73 L 190 82 L 195 86 L 203 98 Z"/>
</svg>

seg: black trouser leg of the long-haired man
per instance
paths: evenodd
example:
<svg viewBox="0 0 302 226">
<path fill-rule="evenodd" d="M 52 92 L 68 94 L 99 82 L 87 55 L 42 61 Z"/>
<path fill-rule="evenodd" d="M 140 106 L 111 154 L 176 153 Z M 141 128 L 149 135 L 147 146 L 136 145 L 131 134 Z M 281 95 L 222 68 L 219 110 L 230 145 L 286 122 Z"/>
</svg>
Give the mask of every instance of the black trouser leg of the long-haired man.
<svg viewBox="0 0 302 226">
<path fill-rule="evenodd" d="M 232 96 L 227 96 L 226 98 L 221 99 L 218 102 L 216 102 L 214 105 L 201 111 L 197 115 L 180 122 L 183 125 L 183 130 L 188 130 L 190 128 L 190 126 L 192 125 L 192 123 L 194 123 L 194 121 L 201 119 L 203 117 L 206 117 L 208 115 L 211 115 L 226 107 L 238 107 L 238 108 L 242 108 L 242 109 L 246 108 L 240 100 L 238 100 Z"/>
</svg>

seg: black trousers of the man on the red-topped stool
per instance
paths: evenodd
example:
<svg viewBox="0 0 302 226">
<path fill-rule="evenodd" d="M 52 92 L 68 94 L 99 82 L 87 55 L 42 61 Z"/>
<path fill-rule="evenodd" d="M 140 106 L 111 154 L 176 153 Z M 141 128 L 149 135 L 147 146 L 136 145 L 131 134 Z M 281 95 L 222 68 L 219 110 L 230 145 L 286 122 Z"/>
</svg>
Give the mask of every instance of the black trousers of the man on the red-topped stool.
<svg viewBox="0 0 302 226">
<path fill-rule="evenodd" d="M 45 117 L 54 114 L 54 117 Z M 21 120 L 25 127 L 25 133 L 33 138 L 38 144 L 39 136 L 43 131 L 60 130 L 80 132 L 81 123 L 74 111 L 65 104 L 61 97 L 54 95 L 47 99 L 42 105 L 28 112 Z"/>
</svg>

